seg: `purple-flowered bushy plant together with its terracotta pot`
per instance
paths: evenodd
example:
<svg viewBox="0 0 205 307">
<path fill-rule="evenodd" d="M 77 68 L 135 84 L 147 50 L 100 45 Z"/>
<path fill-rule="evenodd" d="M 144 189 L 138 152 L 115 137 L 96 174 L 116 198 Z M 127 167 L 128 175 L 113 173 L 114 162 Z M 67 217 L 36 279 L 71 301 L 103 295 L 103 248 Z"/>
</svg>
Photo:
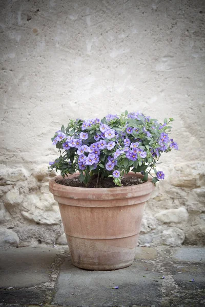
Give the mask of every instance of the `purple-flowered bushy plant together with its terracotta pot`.
<svg viewBox="0 0 205 307">
<path fill-rule="evenodd" d="M 56 131 L 52 142 L 60 155 L 49 169 L 61 176 L 51 179 L 49 189 L 74 266 L 112 270 L 132 264 L 145 202 L 165 177 L 156 163 L 162 152 L 178 149 L 168 136 L 172 121 L 161 124 L 126 111 L 70 120 Z"/>
</svg>

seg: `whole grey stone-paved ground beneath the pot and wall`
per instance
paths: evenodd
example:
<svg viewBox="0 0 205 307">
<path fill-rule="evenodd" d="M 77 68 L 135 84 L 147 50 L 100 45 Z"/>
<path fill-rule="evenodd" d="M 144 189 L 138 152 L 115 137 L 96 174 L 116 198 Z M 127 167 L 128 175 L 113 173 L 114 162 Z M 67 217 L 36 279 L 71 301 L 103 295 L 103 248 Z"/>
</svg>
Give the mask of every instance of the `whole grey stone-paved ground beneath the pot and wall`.
<svg viewBox="0 0 205 307">
<path fill-rule="evenodd" d="M 202 247 L 138 247 L 129 268 L 86 271 L 65 247 L 2 249 L 0 307 L 204 306 L 204 262 Z"/>
</svg>

